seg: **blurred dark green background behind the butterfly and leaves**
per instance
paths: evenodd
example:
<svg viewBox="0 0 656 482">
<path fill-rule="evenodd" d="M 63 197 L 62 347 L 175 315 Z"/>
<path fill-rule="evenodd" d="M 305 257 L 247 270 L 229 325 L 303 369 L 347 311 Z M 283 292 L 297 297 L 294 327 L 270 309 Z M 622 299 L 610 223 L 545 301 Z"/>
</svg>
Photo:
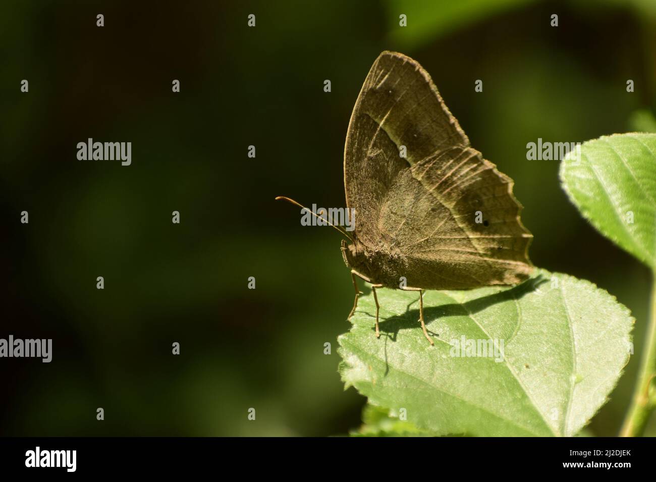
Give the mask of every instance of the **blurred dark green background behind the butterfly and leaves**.
<svg viewBox="0 0 656 482">
<path fill-rule="evenodd" d="M 344 205 L 346 127 L 386 49 L 426 68 L 472 145 L 514 178 L 533 262 L 632 310 L 636 355 L 589 426 L 615 435 L 649 271 L 525 146 L 649 129 L 655 26 L 653 0 L 3 1 L 0 336 L 53 338 L 53 360 L 0 360 L 0 435 L 356 428 L 365 400 L 337 373 L 353 302 L 340 236 L 274 197 Z M 77 161 L 89 137 L 132 142 L 132 165 Z"/>
</svg>

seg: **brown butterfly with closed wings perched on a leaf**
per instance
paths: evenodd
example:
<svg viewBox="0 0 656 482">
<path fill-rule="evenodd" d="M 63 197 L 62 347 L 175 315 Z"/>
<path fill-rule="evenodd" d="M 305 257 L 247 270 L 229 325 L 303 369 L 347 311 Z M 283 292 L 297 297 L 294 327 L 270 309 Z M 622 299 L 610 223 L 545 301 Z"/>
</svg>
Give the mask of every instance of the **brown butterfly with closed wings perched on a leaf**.
<svg viewBox="0 0 656 482">
<path fill-rule="evenodd" d="M 361 294 L 356 277 L 371 283 L 377 337 L 376 289 L 419 291 L 419 321 L 434 344 L 424 323 L 423 290 L 527 279 L 532 235 L 522 225 L 512 186 L 470 147 L 430 75 L 403 54 L 382 52 L 346 134 L 346 205 L 355 209 L 357 222 L 352 235 L 334 226 L 351 241 L 342 241 L 356 290 L 348 318 Z"/>
</svg>

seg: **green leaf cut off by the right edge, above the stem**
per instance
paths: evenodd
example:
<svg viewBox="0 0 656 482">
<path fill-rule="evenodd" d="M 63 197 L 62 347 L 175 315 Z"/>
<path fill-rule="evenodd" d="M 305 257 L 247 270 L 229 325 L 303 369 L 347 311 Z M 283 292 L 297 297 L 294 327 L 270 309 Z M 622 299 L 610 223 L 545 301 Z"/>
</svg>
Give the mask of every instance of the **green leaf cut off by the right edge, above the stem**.
<svg viewBox="0 0 656 482">
<path fill-rule="evenodd" d="M 560 165 L 569 199 L 605 237 L 656 268 L 656 134 L 584 142 Z"/>
</svg>

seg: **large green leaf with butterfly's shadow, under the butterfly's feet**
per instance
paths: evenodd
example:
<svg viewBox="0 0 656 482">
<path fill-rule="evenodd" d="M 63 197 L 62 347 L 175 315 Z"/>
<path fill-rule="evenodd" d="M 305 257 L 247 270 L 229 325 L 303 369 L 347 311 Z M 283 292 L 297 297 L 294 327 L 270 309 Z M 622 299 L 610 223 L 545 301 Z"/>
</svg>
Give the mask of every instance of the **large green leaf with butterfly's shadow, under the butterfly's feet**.
<svg viewBox="0 0 656 482">
<path fill-rule="evenodd" d="M 420 329 L 417 292 L 378 291 L 380 338 L 373 298 L 361 297 L 352 328 L 338 338 L 346 387 L 394 416 L 405 409 L 424 432 L 575 435 L 628 362 L 633 319 L 588 281 L 536 271 L 511 289 L 426 291 L 435 346 Z M 477 348 L 481 340 L 481 351 L 457 356 L 463 336 Z M 487 340 L 497 356 L 483 353 Z"/>
</svg>

